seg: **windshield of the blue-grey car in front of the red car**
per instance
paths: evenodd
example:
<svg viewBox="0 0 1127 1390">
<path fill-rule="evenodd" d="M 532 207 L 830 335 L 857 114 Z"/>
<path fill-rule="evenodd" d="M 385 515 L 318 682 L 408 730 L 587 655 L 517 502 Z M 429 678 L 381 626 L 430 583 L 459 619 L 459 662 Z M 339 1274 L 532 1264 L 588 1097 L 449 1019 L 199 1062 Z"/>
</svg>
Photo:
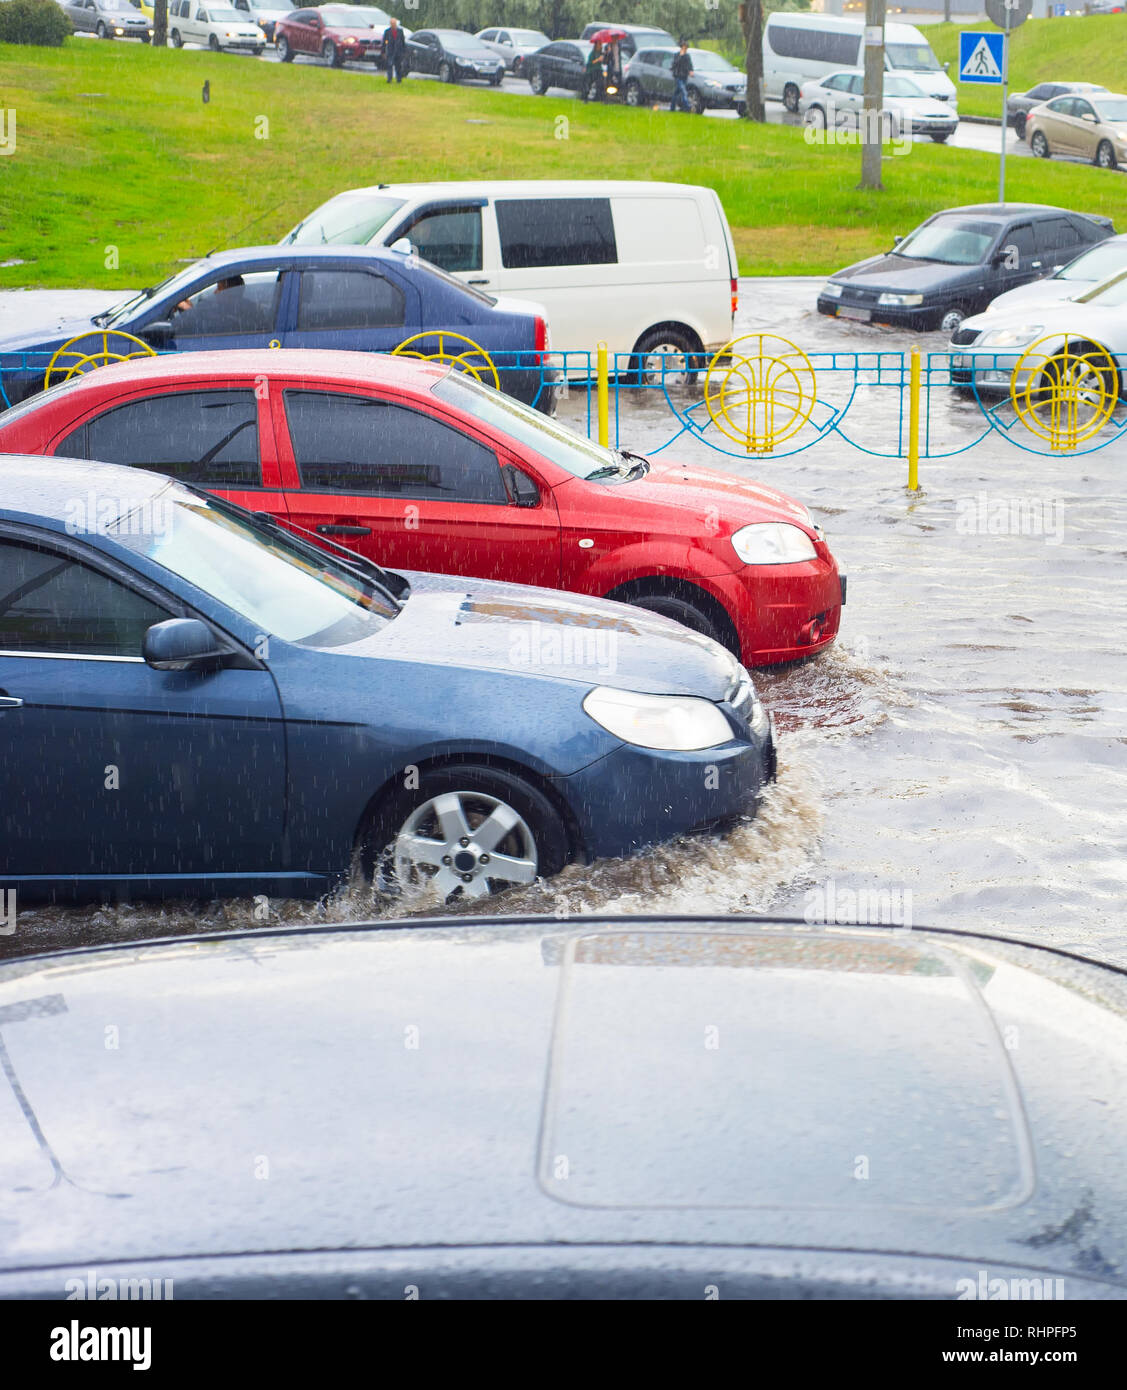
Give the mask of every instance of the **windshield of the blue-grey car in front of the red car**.
<svg viewBox="0 0 1127 1390">
<path fill-rule="evenodd" d="M 106 534 L 260 627 L 303 646 L 342 646 L 384 628 L 399 612 L 328 553 L 306 549 L 239 507 L 170 482 L 151 499 L 160 527 L 125 513 Z M 168 503 L 167 506 L 164 503 Z"/>
</svg>

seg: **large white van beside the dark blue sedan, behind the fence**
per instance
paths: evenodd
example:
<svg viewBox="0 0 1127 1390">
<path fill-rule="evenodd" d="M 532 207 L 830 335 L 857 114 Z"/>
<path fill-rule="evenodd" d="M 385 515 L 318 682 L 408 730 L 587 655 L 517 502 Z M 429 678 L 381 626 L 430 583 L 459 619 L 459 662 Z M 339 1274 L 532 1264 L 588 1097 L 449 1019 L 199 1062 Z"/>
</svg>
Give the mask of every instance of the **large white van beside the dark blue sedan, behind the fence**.
<svg viewBox="0 0 1127 1390">
<path fill-rule="evenodd" d="M 475 289 L 538 300 L 557 352 L 711 353 L 732 338 L 732 234 L 716 192 L 692 183 L 379 183 L 329 199 L 283 240 L 407 240 Z"/>
</svg>

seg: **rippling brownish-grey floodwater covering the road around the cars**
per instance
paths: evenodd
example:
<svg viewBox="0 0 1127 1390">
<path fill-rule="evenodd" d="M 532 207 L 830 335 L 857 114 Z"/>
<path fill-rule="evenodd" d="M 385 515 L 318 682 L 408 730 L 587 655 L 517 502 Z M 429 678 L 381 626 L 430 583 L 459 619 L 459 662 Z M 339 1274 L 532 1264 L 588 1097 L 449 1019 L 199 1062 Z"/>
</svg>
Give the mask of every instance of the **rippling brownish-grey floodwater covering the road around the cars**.
<svg viewBox="0 0 1127 1390">
<path fill-rule="evenodd" d="M 942 349 L 939 334 L 821 318 L 817 284 L 743 281 L 739 331 L 784 334 L 807 353 Z M 827 389 L 841 398 L 839 382 Z M 981 434 L 974 402 L 934 396 L 932 449 Z M 573 389 L 563 418 L 582 424 L 585 411 Z M 630 396 L 620 441 L 659 449 L 671 418 L 664 402 Z M 863 385 L 845 427 L 866 449 L 894 450 L 898 420 L 898 392 Z M 810 506 L 849 575 L 841 639 L 756 677 L 780 734 L 780 780 L 755 823 L 573 866 L 474 910 L 864 922 L 880 905 L 898 924 L 992 929 L 1127 962 L 1127 441 L 1053 457 L 994 435 L 924 459 L 917 495 L 902 459 L 834 435 L 789 457 L 731 457 L 688 438 L 666 456 Z M 270 905 L 272 922 L 372 913 L 356 892 Z M 250 902 L 29 908 L 0 949 L 254 922 Z"/>
</svg>

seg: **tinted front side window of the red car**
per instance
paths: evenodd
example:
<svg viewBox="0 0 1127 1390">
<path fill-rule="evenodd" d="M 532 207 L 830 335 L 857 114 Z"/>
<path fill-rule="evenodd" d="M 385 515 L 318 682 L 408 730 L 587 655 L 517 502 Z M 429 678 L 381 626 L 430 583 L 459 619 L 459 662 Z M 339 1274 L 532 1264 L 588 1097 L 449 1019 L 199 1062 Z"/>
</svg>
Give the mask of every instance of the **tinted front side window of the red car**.
<svg viewBox="0 0 1127 1390">
<path fill-rule="evenodd" d="M 320 391 L 286 391 L 285 406 L 309 492 L 509 503 L 492 449 L 432 416 Z"/>
</svg>

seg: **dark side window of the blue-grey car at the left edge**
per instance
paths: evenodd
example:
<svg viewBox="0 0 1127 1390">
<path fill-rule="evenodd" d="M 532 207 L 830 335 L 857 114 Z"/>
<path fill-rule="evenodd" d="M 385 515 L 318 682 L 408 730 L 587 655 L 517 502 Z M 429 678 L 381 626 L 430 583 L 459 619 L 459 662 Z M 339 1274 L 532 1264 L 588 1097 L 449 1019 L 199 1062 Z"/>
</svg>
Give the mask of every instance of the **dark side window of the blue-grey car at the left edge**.
<svg viewBox="0 0 1127 1390">
<path fill-rule="evenodd" d="M 0 652 L 139 657 L 172 616 L 69 555 L 0 539 Z"/>
</svg>

